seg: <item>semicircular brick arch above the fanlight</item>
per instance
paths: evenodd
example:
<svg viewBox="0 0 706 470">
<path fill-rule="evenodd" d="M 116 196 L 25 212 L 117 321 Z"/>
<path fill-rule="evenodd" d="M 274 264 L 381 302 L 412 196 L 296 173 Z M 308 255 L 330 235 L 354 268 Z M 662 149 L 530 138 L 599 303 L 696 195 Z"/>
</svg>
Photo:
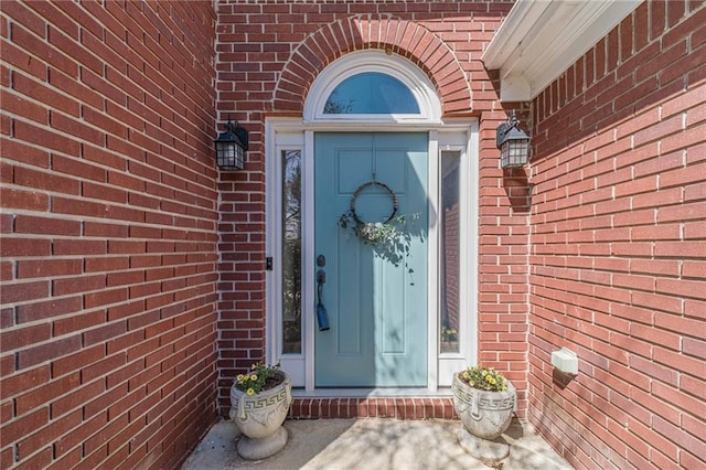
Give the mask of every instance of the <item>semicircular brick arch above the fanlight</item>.
<svg viewBox="0 0 706 470">
<path fill-rule="evenodd" d="M 285 65 L 274 93 L 274 110 L 301 111 L 317 75 L 342 55 L 381 49 L 414 62 L 431 79 L 443 116 L 472 109 L 471 89 L 461 64 L 439 36 L 413 21 L 394 17 L 356 15 L 310 34 Z"/>
</svg>

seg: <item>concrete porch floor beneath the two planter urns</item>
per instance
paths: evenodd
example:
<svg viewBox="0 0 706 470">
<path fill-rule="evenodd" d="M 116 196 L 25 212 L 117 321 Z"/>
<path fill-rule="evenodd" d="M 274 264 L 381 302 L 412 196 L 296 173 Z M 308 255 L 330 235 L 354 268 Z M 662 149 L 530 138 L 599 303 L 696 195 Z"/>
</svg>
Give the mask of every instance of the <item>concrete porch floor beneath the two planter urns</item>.
<svg viewBox="0 0 706 470">
<path fill-rule="evenodd" d="M 459 420 L 394 418 L 303 419 L 285 423 L 287 446 L 260 461 L 236 451 L 235 424 L 215 424 L 182 470 L 257 468 L 263 470 L 415 470 L 488 469 L 457 441 Z M 516 419 L 504 435 L 511 444 L 503 470 L 564 470 L 571 467 L 549 445 Z"/>
</svg>

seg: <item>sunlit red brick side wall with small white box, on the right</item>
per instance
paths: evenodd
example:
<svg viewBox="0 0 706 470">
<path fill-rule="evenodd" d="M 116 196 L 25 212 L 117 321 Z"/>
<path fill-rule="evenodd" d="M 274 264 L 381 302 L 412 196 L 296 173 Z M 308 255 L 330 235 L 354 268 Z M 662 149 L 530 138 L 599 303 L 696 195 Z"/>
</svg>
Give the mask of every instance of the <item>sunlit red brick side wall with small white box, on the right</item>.
<svg viewBox="0 0 706 470">
<path fill-rule="evenodd" d="M 530 418 L 576 468 L 702 468 L 706 8 L 642 3 L 534 119 Z"/>
</svg>

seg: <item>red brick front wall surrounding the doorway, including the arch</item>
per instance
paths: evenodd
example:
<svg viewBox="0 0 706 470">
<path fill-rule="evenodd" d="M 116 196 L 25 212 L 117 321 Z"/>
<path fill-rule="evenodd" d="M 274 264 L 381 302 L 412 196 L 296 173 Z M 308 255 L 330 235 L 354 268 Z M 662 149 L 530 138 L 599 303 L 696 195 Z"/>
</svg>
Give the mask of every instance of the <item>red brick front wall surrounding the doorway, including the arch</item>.
<svg viewBox="0 0 706 470">
<path fill-rule="evenodd" d="M 250 130 L 246 170 L 222 174 L 220 404 L 233 377 L 265 354 L 265 158 L 267 115 L 300 116 L 309 86 L 327 64 L 362 49 L 385 49 L 424 70 L 443 114 L 481 119 L 481 360 L 509 371 L 525 407 L 527 213 L 511 205 L 495 148 L 506 119 L 498 82 L 480 62 L 512 2 L 271 1 L 218 4 L 217 90 L 221 119 Z M 509 109 L 517 105 L 507 105 Z"/>
</svg>

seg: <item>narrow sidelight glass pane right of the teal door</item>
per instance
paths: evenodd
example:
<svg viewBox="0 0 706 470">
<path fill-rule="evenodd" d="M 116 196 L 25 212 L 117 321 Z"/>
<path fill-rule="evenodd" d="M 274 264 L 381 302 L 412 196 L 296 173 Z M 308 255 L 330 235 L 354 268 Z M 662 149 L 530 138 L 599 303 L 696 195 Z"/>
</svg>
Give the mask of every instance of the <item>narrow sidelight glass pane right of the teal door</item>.
<svg viewBox="0 0 706 470">
<path fill-rule="evenodd" d="M 441 152 L 441 306 L 440 351 L 459 352 L 461 224 L 460 159 L 457 152 Z"/>
</svg>

